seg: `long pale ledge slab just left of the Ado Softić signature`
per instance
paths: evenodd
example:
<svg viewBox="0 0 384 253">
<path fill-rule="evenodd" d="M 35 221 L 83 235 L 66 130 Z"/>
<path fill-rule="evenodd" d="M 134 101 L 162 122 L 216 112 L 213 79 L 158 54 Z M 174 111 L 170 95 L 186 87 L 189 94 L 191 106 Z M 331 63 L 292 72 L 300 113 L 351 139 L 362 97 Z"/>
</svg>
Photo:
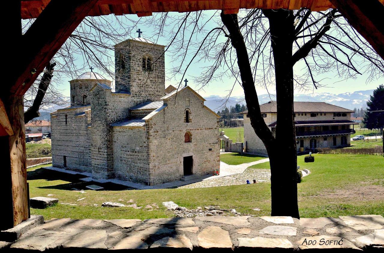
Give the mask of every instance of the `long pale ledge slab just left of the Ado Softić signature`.
<svg viewBox="0 0 384 253">
<path fill-rule="evenodd" d="M 292 243 L 285 238 L 238 238 L 239 248 L 284 248 L 293 249 Z"/>
</svg>

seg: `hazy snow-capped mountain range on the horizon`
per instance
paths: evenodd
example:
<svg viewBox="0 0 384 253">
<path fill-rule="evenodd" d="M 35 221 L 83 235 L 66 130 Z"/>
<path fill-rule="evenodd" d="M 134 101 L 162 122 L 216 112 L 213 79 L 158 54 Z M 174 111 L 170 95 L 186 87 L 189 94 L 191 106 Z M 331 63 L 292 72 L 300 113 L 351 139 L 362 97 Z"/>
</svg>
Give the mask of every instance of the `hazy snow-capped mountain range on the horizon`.
<svg viewBox="0 0 384 253">
<path fill-rule="evenodd" d="M 370 98 L 370 95 L 373 94 L 373 89 L 366 91 L 354 91 L 341 94 L 332 94 L 332 93 L 314 93 L 314 94 L 295 94 L 295 101 L 311 101 L 311 102 L 326 102 L 329 104 L 334 104 L 336 106 L 341 106 L 347 109 L 353 110 L 355 107 L 360 108 L 366 106 L 366 101 Z M 210 109 L 217 112 L 223 107 L 234 106 L 236 103 L 245 104 L 244 96 L 230 97 L 229 99 L 222 98 L 220 96 L 209 96 L 206 97 L 205 105 Z M 270 100 L 276 100 L 275 94 L 262 94 L 258 96 L 260 104 L 266 103 Z M 225 105 L 224 105 L 225 104 Z"/>
</svg>

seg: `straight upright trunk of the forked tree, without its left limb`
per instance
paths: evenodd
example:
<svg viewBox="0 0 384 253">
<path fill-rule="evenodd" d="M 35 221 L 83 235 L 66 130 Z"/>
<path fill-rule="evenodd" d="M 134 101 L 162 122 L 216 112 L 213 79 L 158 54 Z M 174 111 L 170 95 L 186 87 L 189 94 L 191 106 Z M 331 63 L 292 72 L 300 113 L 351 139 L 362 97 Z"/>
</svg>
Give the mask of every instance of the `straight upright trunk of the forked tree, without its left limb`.
<svg viewBox="0 0 384 253">
<path fill-rule="evenodd" d="M 293 117 L 292 43 L 294 15 L 288 10 L 263 10 L 268 17 L 276 78 L 276 149 L 270 155 L 272 216 L 299 218 L 297 150 Z M 271 159 L 272 158 L 272 159 Z"/>
</svg>

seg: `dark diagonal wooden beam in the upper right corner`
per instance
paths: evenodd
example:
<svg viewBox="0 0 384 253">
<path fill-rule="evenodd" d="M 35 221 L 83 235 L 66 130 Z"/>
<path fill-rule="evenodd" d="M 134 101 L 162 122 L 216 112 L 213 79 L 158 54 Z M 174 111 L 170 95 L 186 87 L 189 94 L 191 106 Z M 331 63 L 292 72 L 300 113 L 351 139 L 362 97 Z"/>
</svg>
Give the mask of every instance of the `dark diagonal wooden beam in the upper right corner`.
<svg viewBox="0 0 384 253">
<path fill-rule="evenodd" d="M 384 59 L 384 5 L 379 0 L 329 0 Z"/>
</svg>

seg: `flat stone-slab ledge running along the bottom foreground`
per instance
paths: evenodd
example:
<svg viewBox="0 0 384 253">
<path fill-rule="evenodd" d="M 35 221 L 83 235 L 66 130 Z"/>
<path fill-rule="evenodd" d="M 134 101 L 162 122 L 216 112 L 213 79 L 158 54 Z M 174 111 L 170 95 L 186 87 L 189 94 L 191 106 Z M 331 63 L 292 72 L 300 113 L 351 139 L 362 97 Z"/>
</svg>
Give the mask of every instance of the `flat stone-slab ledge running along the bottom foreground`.
<svg viewBox="0 0 384 253">
<path fill-rule="evenodd" d="M 220 248 L 228 251 L 328 249 L 324 252 L 329 252 L 331 249 L 332 252 L 383 252 L 384 218 L 381 215 L 306 218 L 303 221 L 291 217 L 250 216 L 144 221 L 61 218 L 40 223 L 16 241 L 0 241 L 0 249 L 7 248 L 35 251 L 159 248 L 190 252 Z"/>
</svg>

